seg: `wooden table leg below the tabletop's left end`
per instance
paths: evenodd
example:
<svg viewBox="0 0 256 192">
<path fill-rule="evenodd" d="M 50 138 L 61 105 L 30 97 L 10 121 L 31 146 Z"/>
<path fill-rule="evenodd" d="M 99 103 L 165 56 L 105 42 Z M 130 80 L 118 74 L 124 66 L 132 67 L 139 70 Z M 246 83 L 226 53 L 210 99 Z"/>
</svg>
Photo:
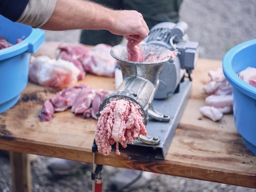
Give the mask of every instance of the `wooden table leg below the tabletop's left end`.
<svg viewBox="0 0 256 192">
<path fill-rule="evenodd" d="M 9 152 L 13 192 L 31 192 L 31 167 L 29 154 Z"/>
</svg>

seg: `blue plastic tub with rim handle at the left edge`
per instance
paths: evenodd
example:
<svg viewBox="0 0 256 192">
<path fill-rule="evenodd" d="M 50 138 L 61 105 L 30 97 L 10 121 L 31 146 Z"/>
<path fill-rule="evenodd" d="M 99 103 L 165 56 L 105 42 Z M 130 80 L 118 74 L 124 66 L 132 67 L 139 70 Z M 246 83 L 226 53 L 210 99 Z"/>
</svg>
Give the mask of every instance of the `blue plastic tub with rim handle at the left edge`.
<svg viewBox="0 0 256 192">
<path fill-rule="evenodd" d="M 20 98 L 28 81 L 29 60 L 45 42 L 45 32 L 12 22 L 0 15 L 0 36 L 13 46 L 0 50 L 0 113 L 11 108 Z M 16 40 L 22 42 L 16 44 Z"/>
</svg>

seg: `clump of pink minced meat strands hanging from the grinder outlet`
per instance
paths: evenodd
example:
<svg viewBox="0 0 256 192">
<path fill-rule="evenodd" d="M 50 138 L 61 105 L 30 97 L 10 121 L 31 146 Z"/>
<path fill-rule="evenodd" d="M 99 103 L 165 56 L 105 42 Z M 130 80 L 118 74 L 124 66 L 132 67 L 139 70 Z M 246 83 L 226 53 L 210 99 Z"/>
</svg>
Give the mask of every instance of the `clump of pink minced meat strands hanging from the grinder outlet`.
<svg viewBox="0 0 256 192">
<path fill-rule="evenodd" d="M 120 155 L 119 142 L 126 148 L 127 143 L 139 137 L 147 136 L 146 126 L 140 113 L 140 106 L 124 99 L 113 100 L 100 112 L 95 142 L 98 151 L 108 155 L 116 142 L 116 154 Z"/>
</svg>

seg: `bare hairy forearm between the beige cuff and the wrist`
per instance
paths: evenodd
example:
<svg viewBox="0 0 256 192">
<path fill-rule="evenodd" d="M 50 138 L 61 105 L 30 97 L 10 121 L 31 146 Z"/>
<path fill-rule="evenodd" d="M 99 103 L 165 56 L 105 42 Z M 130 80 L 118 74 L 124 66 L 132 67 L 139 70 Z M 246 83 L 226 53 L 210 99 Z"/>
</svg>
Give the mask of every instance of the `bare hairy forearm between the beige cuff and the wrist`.
<svg viewBox="0 0 256 192">
<path fill-rule="evenodd" d="M 113 25 L 112 10 L 85 0 L 57 0 L 47 30 L 106 29 Z"/>
</svg>

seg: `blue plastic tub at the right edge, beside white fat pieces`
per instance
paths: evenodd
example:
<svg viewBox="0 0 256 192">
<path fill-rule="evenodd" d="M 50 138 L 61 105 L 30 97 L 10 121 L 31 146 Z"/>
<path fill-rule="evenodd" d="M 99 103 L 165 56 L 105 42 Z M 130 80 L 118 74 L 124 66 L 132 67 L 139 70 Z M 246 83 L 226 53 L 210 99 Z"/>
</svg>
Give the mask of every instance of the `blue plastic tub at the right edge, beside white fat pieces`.
<svg viewBox="0 0 256 192">
<path fill-rule="evenodd" d="M 256 39 L 233 47 L 222 61 L 224 75 L 232 85 L 236 129 L 247 148 L 256 154 L 256 87 L 237 76 L 247 67 L 256 67 Z"/>
</svg>

